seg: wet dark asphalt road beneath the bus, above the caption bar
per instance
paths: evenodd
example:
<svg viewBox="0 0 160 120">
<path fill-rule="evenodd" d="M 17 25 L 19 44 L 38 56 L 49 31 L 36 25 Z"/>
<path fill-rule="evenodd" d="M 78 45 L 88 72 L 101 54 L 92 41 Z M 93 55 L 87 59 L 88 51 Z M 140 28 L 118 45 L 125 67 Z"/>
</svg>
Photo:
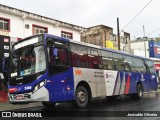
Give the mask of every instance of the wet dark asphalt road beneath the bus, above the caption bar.
<svg viewBox="0 0 160 120">
<path fill-rule="evenodd" d="M 93 100 L 91 105 L 84 109 L 78 109 L 71 103 L 61 103 L 54 109 L 43 106 L 15 109 L 16 111 L 160 111 L 160 92 L 145 93 L 141 100 L 132 99 L 130 96 L 117 98 L 99 98 Z"/>
</svg>

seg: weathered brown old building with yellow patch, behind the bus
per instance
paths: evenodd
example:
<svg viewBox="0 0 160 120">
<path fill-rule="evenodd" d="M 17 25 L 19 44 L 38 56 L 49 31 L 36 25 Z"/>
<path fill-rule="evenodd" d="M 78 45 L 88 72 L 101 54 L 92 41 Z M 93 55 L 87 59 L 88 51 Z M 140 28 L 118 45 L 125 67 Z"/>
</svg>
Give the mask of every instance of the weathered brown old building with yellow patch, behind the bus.
<svg viewBox="0 0 160 120">
<path fill-rule="evenodd" d="M 105 25 L 87 28 L 81 34 L 81 41 L 111 49 L 118 49 L 117 35 L 113 33 L 113 28 Z M 124 52 L 131 52 L 130 34 L 127 32 L 122 32 L 120 36 L 120 49 Z"/>
</svg>

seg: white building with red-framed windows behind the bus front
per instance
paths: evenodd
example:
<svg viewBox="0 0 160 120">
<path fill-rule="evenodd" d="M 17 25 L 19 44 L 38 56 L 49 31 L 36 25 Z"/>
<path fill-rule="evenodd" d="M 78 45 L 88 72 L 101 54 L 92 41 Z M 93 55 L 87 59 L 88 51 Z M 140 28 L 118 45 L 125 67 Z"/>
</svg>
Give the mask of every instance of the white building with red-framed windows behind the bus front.
<svg viewBox="0 0 160 120">
<path fill-rule="evenodd" d="M 39 33 L 49 33 L 80 41 L 84 27 L 62 22 L 0 4 L 0 35 L 16 41 Z"/>
</svg>

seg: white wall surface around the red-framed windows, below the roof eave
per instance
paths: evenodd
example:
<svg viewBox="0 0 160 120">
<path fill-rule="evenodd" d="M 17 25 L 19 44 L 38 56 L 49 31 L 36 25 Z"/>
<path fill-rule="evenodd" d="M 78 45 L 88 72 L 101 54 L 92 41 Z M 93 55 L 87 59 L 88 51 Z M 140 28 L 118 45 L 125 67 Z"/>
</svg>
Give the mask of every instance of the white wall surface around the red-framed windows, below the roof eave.
<svg viewBox="0 0 160 120">
<path fill-rule="evenodd" d="M 0 31 L 0 35 L 8 35 L 16 38 L 25 38 L 32 35 L 32 25 L 40 25 L 48 28 L 48 33 L 61 36 L 61 31 L 73 33 L 73 39 L 81 41 L 81 35 L 79 31 L 72 28 L 65 28 L 49 24 L 43 21 L 33 20 L 30 18 L 22 18 L 18 15 L 8 14 L 0 11 L 0 17 L 10 19 L 10 32 Z M 29 25 L 29 29 L 25 28 L 25 24 Z"/>
</svg>

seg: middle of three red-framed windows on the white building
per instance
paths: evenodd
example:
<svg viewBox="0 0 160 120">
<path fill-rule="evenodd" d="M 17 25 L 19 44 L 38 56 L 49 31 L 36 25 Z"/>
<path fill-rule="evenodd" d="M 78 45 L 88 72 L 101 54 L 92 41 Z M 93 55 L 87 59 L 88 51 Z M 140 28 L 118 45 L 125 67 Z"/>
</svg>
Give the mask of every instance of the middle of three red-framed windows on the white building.
<svg viewBox="0 0 160 120">
<path fill-rule="evenodd" d="M 48 28 L 39 25 L 33 25 L 33 35 L 41 33 L 48 33 Z"/>
</svg>

